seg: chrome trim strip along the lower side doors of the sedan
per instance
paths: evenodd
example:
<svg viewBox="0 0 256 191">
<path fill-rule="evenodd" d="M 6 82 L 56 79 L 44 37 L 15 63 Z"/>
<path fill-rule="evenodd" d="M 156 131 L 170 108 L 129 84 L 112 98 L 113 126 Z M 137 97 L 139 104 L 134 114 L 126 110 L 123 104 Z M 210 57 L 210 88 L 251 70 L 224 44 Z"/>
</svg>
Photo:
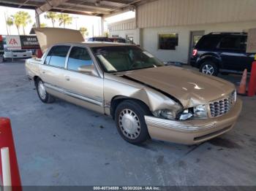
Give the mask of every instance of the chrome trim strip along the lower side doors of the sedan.
<svg viewBox="0 0 256 191">
<path fill-rule="evenodd" d="M 69 95 L 72 98 L 78 98 L 78 99 L 80 99 L 82 101 L 86 101 L 86 102 L 89 102 L 91 104 L 95 104 L 97 106 L 103 106 L 102 101 L 97 101 L 97 100 L 94 100 L 92 98 L 88 98 L 88 97 L 86 97 L 84 95 L 80 95 L 80 94 L 77 94 L 77 93 L 70 92 L 69 90 L 64 90 L 64 89 L 62 89 L 60 87 L 56 87 L 55 85 L 50 85 L 48 83 L 45 83 L 45 87 L 48 87 L 48 88 L 50 88 L 52 90 L 56 90 L 59 93 L 64 93 L 65 95 Z"/>
</svg>

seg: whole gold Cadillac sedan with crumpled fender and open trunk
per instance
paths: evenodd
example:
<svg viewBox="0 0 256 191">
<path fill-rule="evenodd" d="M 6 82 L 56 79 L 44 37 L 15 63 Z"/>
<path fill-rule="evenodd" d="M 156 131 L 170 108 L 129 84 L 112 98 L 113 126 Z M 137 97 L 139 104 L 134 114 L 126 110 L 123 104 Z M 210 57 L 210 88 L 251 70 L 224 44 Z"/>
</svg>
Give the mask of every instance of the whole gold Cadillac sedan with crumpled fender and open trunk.
<svg viewBox="0 0 256 191">
<path fill-rule="evenodd" d="M 165 66 L 135 45 L 81 43 L 67 29 L 34 31 L 45 53 L 26 61 L 26 74 L 40 100 L 107 114 L 129 143 L 198 144 L 231 130 L 241 112 L 234 85 L 223 79 Z"/>
</svg>

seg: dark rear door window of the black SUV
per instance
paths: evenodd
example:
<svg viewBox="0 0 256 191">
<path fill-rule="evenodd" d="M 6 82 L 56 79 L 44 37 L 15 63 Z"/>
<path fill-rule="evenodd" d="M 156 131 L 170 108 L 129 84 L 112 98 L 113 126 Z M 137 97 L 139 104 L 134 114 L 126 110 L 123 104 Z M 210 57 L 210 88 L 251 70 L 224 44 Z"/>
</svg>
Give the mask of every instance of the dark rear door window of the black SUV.
<svg viewBox="0 0 256 191">
<path fill-rule="evenodd" d="M 241 36 L 227 36 L 219 43 L 220 49 L 241 50 Z"/>
</svg>

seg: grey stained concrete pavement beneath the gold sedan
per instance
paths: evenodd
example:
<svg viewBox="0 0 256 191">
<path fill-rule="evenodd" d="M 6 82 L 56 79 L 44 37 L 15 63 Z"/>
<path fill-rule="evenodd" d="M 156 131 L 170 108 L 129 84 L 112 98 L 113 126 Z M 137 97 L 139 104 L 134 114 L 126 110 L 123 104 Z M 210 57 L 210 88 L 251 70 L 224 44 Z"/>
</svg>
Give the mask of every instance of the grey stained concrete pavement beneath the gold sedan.
<svg viewBox="0 0 256 191">
<path fill-rule="evenodd" d="M 109 117 L 42 104 L 23 62 L 0 64 L 0 116 L 12 121 L 23 185 L 256 185 L 256 98 L 241 98 L 236 127 L 217 139 L 135 146 Z"/>
</svg>

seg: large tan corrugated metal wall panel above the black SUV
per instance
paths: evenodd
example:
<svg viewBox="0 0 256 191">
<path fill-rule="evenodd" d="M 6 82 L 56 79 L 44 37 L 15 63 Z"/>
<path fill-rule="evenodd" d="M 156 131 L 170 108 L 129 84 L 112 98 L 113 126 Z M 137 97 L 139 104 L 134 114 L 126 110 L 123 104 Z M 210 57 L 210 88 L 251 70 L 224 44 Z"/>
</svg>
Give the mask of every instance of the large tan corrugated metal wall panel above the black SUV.
<svg viewBox="0 0 256 191">
<path fill-rule="evenodd" d="M 256 0 L 158 0 L 138 7 L 138 27 L 256 20 Z"/>
</svg>

